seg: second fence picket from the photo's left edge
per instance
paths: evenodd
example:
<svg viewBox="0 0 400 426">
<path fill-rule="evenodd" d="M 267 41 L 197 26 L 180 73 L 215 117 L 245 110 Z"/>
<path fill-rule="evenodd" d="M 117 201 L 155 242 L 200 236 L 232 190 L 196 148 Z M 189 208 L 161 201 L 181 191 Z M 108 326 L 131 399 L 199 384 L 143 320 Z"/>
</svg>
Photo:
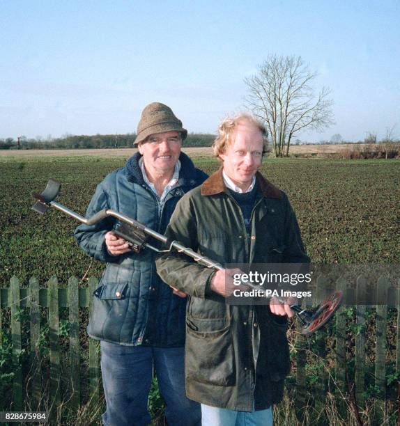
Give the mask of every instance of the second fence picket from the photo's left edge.
<svg viewBox="0 0 400 426">
<path fill-rule="evenodd" d="M 31 299 L 31 371 L 33 409 L 38 410 L 42 395 L 42 368 L 40 360 L 40 306 L 39 306 L 39 281 L 32 277 L 29 280 L 29 297 Z"/>
</svg>

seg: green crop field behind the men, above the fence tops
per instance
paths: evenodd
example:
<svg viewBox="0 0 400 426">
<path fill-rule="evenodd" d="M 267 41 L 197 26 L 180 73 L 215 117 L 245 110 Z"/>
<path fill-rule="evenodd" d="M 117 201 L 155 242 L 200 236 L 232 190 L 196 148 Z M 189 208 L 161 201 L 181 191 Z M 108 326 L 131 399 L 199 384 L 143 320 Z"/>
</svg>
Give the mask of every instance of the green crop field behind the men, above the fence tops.
<svg viewBox="0 0 400 426">
<path fill-rule="evenodd" d="M 95 185 L 121 158 L 54 157 L 0 162 L 0 282 L 16 275 L 26 284 L 57 276 L 100 276 L 102 265 L 79 250 L 72 232 L 77 223 L 49 210 L 33 212 L 31 194 L 49 178 L 62 182 L 58 201 L 84 214 Z M 217 160 L 197 157 L 212 173 Z M 265 159 L 261 171 L 286 191 L 313 262 L 399 263 L 400 160 L 332 161 Z"/>
</svg>

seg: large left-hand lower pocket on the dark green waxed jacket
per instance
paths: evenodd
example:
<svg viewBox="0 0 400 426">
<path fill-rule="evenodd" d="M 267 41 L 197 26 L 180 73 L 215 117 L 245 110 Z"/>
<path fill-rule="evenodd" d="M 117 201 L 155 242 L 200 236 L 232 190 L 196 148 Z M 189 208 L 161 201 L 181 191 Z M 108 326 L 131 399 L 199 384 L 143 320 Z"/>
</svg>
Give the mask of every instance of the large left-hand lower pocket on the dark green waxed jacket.
<svg viewBox="0 0 400 426">
<path fill-rule="evenodd" d="M 236 383 L 235 354 L 228 319 L 187 317 L 185 374 L 187 381 L 215 386 Z"/>
</svg>

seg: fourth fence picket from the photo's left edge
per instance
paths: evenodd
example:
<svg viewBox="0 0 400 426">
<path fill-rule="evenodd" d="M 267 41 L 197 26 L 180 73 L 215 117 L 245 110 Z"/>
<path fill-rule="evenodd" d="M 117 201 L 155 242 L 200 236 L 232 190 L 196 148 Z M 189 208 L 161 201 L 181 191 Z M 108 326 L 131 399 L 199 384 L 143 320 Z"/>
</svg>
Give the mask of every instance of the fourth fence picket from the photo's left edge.
<svg viewBox="0 0 400 426">
<path fill-rule="evenodd" d="M 79 355 L 79 288 L 78 279 L 72 276 L 68 280 L 70 306 L 70 374 L 71 374 L 71 406 L 77 412 L 80 403 L 80 355 Z"/>
</svg>

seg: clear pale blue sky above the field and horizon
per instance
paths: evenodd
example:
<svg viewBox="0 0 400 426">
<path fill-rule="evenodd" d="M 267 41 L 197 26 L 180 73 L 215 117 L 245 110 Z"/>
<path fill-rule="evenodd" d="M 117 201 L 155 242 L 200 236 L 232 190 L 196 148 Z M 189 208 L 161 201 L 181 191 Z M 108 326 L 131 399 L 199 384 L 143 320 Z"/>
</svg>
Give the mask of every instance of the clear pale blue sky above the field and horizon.
<svg viewBox="0 0 400 426">
<path fill-rule="evenodd" d="M 0 0 L 0 138 L 134 132 L 149 102 L 190 132 L 243 109 L 268 54 L 328 86 L 339 133 L 400 136 L 400 1 Z"/>
</svg>

